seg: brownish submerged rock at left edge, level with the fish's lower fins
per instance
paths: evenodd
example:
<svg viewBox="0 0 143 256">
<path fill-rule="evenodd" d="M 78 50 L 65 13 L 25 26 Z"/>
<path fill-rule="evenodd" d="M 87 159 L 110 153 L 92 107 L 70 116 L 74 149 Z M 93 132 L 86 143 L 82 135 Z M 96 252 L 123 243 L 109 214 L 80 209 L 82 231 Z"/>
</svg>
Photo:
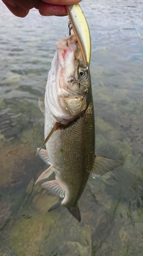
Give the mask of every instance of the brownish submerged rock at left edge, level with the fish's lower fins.
<svg viewBox="0 0 143 256">
<path fill-rule="evenodd" d="M 36 150 L 35 150 L 36 152 Z M 38 173 L 44 163 L 35 158 L 35 152 L 30 147 L 4 147 L 0 150 L 0 189 L 15 186 L 27 186 L 29 180 Z"/>
</svg>

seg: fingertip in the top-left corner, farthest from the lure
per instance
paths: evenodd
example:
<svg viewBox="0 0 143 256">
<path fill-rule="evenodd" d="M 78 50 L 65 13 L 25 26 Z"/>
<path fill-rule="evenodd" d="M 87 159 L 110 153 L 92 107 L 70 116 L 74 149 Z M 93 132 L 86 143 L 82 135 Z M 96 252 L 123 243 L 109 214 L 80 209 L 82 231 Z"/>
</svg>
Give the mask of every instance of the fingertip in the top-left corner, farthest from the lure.
<svg viewBox="0 0 143 256">
<path fill-rule="evenodd" d="M 7 6 L 7 8 L 11 11 L 11 13 L 13 13 L 17 17 L 23 18 L 29 13 L 29 10 L 24 10 L 23 8 L 19 7 L 18 5 L 15 5 L 15 7 L 14 7 L 14 6 L 11 6 L 10 4 L 8 4 L 7 2 L 5 2 L 4 0 L 2 0 L 2 1 Z"/>
</svg>

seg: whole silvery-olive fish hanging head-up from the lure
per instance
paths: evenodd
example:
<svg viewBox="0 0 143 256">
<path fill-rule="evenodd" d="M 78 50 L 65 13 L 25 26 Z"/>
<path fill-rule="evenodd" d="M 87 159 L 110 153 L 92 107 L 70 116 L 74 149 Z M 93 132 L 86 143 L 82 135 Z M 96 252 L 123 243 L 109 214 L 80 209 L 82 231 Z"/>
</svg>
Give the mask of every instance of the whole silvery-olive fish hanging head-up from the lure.
<svg viewBox="0 0 143 256">
<path fill-rule="evenodd" d="M 35 182 L 48 179 L 42 188 L 54 192 L 60 201 L 48 212 L 65 206 L 81 221 L 79 198 L 89 175 L 97 178 L 122 165 L 115 159 L 95 155 L 95 120 L 91 75 L 74 33 L 56 44 L 45 97 L 38 105 L 45 116 L 44 137 L 37 154 L 49 165 Z M 46 149 L 42 147 L 45 146 Z"/>
</svg>

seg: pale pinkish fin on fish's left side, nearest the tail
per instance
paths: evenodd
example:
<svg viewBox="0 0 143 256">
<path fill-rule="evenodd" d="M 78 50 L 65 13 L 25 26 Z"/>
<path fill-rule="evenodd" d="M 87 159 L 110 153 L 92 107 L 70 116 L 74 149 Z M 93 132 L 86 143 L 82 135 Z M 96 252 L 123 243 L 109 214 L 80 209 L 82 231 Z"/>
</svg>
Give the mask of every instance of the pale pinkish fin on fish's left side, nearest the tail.
<svg viewBox="0 0 143 256">
<path fill-rule="evenodd" d="M 61 186 L 60 181 L 57 179 L 44 182 L 41 186 L 43 188 L 48 189 L 49 191 L 54 192 L 55 194 L 57 194 L 60 197 L 64 197 L 64 189 Z"/>
</svg>

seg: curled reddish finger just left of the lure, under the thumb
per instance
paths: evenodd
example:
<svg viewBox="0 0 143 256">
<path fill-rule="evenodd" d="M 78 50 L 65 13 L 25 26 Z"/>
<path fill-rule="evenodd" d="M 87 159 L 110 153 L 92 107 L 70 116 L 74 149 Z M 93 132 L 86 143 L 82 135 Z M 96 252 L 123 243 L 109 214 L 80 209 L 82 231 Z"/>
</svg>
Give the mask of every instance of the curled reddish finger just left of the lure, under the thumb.
<svg viewBox="0 0 143 256">
<path fill-rule="evenodd" d="M 66 16 L 67 11 L 65 5 L 52 5 L 41 2 L 39 5 L 39 13 L 42 16 Z"/>
</svg>

